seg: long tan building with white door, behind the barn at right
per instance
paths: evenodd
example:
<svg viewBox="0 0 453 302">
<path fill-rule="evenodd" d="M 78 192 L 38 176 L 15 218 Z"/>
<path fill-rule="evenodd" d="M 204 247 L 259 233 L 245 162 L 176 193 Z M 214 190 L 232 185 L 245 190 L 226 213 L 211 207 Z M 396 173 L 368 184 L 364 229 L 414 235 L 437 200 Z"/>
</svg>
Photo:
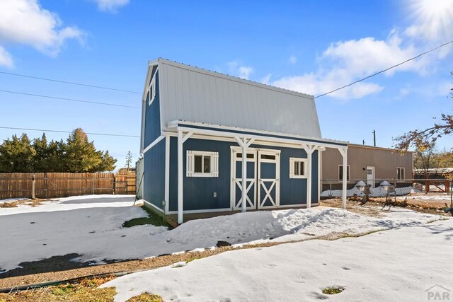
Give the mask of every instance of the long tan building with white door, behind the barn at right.
<svg viewBox="0 0 453 302">
<path fill-rule="evenodd" d="M 323 190 L 340 189 L 343 173 L 343 158 L 335 149 L 322 152 L 321 182 Z M 395 149 L 348 144 L 348 188 L 359 180 L 372 187 L 382 180 L 395 180 L 397 187 L 408 184 L 412 178 L 413 153 L 400 153 Z"/>
</svg>

